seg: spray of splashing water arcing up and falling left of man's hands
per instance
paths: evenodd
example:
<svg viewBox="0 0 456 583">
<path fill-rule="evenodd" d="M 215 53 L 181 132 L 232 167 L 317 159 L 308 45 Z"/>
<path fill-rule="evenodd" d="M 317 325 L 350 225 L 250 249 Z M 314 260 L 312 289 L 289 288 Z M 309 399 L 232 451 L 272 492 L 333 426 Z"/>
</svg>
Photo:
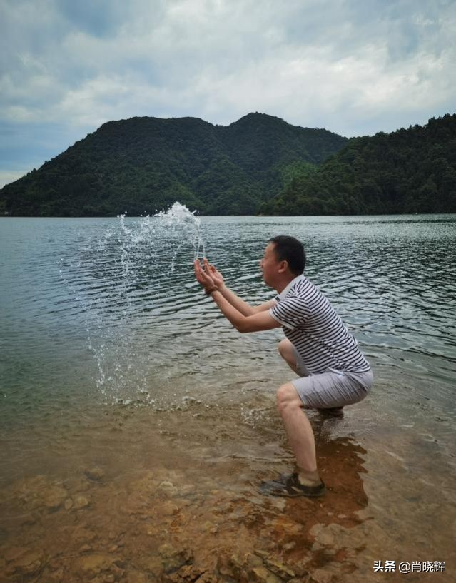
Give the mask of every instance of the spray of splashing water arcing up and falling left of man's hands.
<svg viewBox="0 0 456 583">
<path fill-rule="evenodd" d="M 153 216 L 123 213 L 81 249 L 78 262 L 61 260 L 61 279 L 83 313 L 96 362 L 94 385 L 106 402 L 155 402 L 151 362 L 154 370 L 170 363 L 160 334 L 156 345 L 145 346 L 141 331 L 160 325 L 161 332 L 170 290 L 185 278 L 193 285 L 193 260 L 205 250 L 195 212 L 176 202 Z"/>
</svg>

